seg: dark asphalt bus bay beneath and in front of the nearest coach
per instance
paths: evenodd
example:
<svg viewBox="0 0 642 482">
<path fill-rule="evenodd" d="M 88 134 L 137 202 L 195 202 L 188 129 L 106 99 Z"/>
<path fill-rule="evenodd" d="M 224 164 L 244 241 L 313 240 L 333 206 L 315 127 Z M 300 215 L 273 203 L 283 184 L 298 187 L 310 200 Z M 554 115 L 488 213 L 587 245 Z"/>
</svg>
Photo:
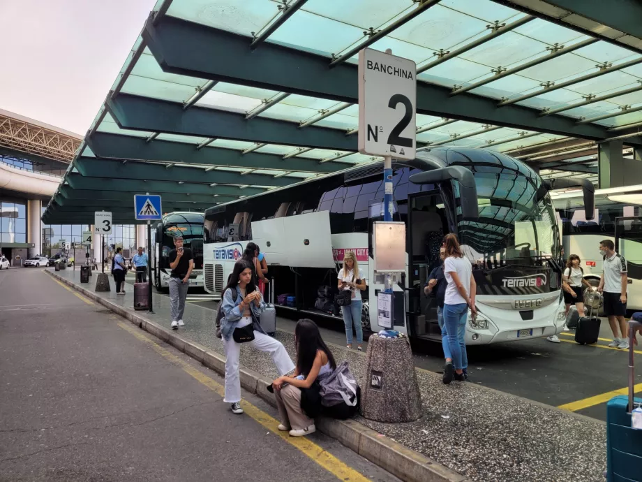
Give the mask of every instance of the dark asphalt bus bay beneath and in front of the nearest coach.
<svg viewBox="0 0 642 482">
<path fill-rule="evenodd" d="M 156 291 L 154 291 L 156 295 Z M 162 293 L 158 295 L 166 296 Z M 216 310 L 218 303 L 204 291 L 190 291 L 188 302 Z M 287 315 L 285 310 L 278 311 Z M 326 342 L 345 346 L 341 320 L 318 319 Z M 279 316 L 277 326 L 294 333 L 296 319 Z M 574 343 L 573 332 L 560 335 L 559 344 L 546 339 L 508 342 L 468 347 L 470 381 L 506 393 L 555 407 L 573 403 L 578 414 L 606 420 L 606 400 L 613 390 L 627 387 L 627 351 L 609 349 L 613 335 L 606 319 L 602 320 L 597 345 Z M 354 345 L 356 346 L 356 345 Z M 364 344 L 364 351 L 367 342 Z M 443 352 L 434 342 L 414 344 L 415 365 L 424 370 L 442 372 Z M 636 384 L 642 384 L 642 346 L 636 350 L 639 367 Z M 642 391 L 642 387 L 639 388 Z M 592 399 L 603 395 L 604 401 Z"/>
</svg>

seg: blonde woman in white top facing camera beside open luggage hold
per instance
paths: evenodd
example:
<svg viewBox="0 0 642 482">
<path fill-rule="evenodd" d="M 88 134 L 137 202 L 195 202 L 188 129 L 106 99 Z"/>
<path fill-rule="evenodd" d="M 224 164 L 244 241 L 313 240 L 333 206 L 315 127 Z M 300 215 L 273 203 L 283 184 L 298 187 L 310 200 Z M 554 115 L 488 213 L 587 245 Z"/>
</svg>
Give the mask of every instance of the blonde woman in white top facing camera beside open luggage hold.
<svg viewBox="0 0 642 482">
<path fill-rule="evenodd" d="M 361 351 L 361 344 L 364 343 L 364 330 L 361 328 L 361 308 L 364 302 L 361 300 L 361 291 L 366 289 L 366 278 L 359 271 L 359 263 L 354 251 L 345 251 L 343 256 L 343 268 L 338 273 L 338 289 L 350 291 L 350 305 L 341 307 L 343 324 L 345 325 L 345 342 L 348 348 L 352 348 L 352 325 L 357 332 L 357 350 Z"/>
</svg>

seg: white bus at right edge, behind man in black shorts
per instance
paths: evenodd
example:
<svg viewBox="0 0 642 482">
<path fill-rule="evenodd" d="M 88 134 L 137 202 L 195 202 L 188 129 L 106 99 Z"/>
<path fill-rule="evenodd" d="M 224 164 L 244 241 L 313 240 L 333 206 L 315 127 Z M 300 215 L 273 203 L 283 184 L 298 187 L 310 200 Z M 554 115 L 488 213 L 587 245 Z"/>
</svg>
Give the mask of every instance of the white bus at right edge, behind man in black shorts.
<svg viewBox="0 0 642 482">
<path fill-rule="evenodd" d="M 584 277 L 592 286 L 602 276 L 599 242 L 611 240 L 629 264 L 627 309 L 642 309 L 642 256 L 637 240 L 642 222 L 642 185 L 597 189 L 593 219 L 586 219 L 581 192 L 553 193 L 555 211 L 562 224 L 564 257 L 576 254 L 582 260 Z M 626 252 L 626 254 L 625 254 Z"/>
</svg>

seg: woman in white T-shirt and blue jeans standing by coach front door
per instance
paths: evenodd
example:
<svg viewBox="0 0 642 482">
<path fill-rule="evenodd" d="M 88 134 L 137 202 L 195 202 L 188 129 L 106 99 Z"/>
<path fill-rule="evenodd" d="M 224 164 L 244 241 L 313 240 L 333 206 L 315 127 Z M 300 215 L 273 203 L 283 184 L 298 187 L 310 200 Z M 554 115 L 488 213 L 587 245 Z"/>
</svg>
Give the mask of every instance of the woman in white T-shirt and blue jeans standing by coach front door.
<svg viewBox="0 0 642 482">
<path fill-rule="evenodd" d="M 477 284 L 472 277 L 472 265 L 463 256 L 455 234 L 446 235 L 446 295 L 444 298 L 444 326 L 452 358 L 446 358 L 443 382 L 449 384 L 453 379 L 465 381 L 468 378 L 468 355 L 466 353 L 465 333 L 468 309 L 472 316 L 477 314 L 475 292 Z"/>
</svg>

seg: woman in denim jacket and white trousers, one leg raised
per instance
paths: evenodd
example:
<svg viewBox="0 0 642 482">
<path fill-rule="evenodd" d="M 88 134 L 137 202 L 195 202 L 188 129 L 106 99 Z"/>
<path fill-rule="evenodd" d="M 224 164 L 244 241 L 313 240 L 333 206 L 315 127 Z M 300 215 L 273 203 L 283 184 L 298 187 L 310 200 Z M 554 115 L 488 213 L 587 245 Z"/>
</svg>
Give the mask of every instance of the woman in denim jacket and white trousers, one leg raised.
<svg viewBox="0 0 642 482">
<path fill-rule="evenodd" d="M 232 290 L 235 290 L 236 300 Z M 236 328 L 253 324 L 254 339 L 247 344 L 260 351 L 267 351 L 279 376 L 294 370 L 294 363 L 285 351 L 283 344 L 269 337 L 257 321 L 265 308 L 261 293 L 255 289 L 252 282 L 252 265 L 248 261 L 237 261 L 230 280 L 223 291 L 223 314 L 221 319 L 221 335 L 225 347 L 225 398 L 224 402 L 232 404 L 234 414 L 242 414 L 241 409 L 241 378 L 239 375 L 239 356 L 241 343 L 234 341 L 232 333 Z"/>
</svg>

